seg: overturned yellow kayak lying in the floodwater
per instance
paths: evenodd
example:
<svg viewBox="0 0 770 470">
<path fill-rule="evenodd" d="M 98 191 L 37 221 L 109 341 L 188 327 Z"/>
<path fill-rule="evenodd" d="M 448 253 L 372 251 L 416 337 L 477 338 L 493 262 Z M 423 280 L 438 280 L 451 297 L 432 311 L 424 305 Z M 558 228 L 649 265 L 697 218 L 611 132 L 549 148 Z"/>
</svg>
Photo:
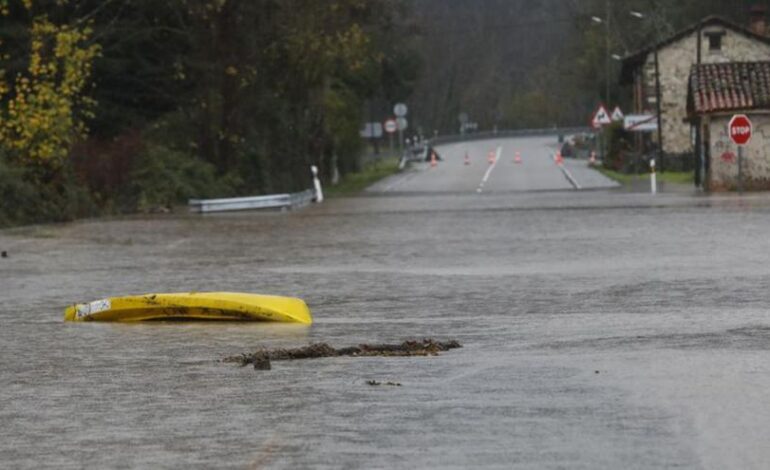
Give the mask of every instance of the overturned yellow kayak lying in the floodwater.
<svg viewBox="0 0 770 470">
<path fill-rule="evenodd" d="M 238 320 L 313 322 L 302 299 L 237 292 L 184 292 L 110 297 L 71 305 L 65 321 Z"/>
</svg>

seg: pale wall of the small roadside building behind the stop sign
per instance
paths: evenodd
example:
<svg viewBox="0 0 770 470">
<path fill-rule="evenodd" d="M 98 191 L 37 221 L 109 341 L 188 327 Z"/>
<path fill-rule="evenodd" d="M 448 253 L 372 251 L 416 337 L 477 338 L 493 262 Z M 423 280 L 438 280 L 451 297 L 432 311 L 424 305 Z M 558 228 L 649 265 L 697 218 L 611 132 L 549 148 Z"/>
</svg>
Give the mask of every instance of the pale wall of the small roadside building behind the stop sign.
<svg viewBox="0 0 770 470">
<path fill-rule="evenodd" d="M 746 114 L 754 132 L 751 142 L 743 148 L 743 187 L 767 190 L 770 189 L 770 113 Z M 730 117 L 708 118 L 711 164 L 706 186 L 709 191 L 731 191 L 738 187 L 738 147 L 727 133 Z"/>
</svg>

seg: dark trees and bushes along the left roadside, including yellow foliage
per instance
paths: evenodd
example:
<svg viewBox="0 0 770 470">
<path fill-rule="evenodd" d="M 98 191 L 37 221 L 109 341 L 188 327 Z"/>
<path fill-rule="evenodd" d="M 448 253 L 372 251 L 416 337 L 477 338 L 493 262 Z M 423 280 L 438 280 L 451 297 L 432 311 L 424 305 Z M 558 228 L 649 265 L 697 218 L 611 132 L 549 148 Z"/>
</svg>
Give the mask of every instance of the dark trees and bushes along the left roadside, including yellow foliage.
<svg viewBox="0 0 770 470">
<path fill-rule="evenodd" d="M 306 189 L 405 100 L 406 0 L 0 0 L 0 226 Z M 367 104 L 368 106 L 364 106 Z"/>
</svg>

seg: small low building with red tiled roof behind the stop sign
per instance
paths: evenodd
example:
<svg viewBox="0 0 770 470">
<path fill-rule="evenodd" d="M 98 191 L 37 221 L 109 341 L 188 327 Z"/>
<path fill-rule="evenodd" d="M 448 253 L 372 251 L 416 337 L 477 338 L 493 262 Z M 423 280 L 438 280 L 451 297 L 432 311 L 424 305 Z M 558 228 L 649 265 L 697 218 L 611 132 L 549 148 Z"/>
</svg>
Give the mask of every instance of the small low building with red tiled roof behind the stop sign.
<svg viewBox="0 0 770 470">
<path fill-rule="evenodd" d="M 752 121 L 753 137 L 744 146 L 742 186 L 770 189 L 770 61 L 694 65 L 687 92 L 690 122 L 700 131 L 697 169 L 710 191 L 738 187 L 738 149 L 728 134 L 735 114 Z"/>
</svg>

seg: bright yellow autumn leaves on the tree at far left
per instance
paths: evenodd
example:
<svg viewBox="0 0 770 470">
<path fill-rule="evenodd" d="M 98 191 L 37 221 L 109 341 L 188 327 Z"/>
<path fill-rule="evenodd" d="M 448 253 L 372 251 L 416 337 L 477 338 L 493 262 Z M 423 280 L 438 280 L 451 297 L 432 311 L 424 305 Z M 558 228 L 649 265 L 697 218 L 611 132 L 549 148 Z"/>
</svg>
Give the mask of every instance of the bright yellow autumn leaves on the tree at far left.
<svg viewBox="0 0 770 470">
<path fill-rule="evenodd" d="M 31 0 L 24 6 L 30 9 Z M 0 13 L 4 9 L 5 0 Z M 84 119 L 95 102 L 83 92 L 100 49 L 89 44 L 87 26 L 56 25 L 38 16 L 29 28 L 26 71 L 11 81 L 0 62 L 0 148 L 20 163 L 58 166 L 87 131 Z"/>
</svg>

